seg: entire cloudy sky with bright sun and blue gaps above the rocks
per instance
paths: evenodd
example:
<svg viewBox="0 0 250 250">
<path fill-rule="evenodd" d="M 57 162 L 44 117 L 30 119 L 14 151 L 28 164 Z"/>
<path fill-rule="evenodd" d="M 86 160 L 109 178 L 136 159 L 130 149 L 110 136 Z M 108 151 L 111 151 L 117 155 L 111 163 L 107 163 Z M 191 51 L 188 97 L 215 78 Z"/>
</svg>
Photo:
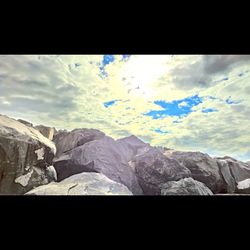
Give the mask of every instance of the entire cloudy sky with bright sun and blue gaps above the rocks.
<svg viewBox="0 0 250 250">
<path fill-rule="evenodd" d="M 249 55 L 0 55 L 0 114 L 250 160 Z"/>
</svg>

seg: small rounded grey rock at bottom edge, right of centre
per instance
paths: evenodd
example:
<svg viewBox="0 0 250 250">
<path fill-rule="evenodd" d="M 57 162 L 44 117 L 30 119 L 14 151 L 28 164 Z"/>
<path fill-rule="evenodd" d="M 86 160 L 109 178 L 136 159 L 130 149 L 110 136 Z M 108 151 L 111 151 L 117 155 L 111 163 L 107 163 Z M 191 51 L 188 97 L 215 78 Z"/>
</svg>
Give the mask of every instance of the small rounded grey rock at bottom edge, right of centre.
<svg viewBox="0 0 250 250">
<path fill-rule="evenodd" d="M 193 178 L 184 178 L 162 184 L 161 195 L 213 195 L 213 193 L 204 183 Z"/>
</svg>

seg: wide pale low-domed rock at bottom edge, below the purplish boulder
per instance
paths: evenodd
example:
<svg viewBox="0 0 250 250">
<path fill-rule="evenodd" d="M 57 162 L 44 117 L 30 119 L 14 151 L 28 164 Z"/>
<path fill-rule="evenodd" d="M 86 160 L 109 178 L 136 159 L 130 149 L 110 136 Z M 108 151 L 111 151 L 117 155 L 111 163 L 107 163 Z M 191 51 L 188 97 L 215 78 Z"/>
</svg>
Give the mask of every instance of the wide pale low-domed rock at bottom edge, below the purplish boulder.
<svg viewBox="0 0 250 250">
<path fill-rule="evenodd" d="M 59 183 L 37 187 L 26 195 L 132 195 L 128 188 L 99 173 L 73 175 Z"/>
</svg>

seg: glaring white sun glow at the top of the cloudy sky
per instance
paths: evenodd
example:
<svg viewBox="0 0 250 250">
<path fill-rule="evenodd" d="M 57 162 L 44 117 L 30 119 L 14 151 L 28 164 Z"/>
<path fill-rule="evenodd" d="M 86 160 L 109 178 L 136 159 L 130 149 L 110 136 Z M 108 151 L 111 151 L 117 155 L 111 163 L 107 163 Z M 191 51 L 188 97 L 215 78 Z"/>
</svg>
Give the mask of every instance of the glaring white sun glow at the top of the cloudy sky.
<svg viewBox="0 0 250 250">
<path fill-rule="evenodd" d="M 152 84 L 166 73 L 170 55 L 136 55 L 122 68 L 121 80 L 129 94 L 153 95 Z"/>
</svg>

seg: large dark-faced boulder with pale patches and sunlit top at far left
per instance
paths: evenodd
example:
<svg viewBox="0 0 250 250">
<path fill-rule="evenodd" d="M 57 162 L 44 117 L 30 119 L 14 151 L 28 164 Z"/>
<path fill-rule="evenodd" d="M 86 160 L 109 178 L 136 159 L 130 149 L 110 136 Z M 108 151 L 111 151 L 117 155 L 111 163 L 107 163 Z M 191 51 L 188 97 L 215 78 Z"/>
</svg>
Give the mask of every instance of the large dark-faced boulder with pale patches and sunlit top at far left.
<svg viewBox="0 0 250 250">
<path fill-rule="evenodd" d="M 0 194 L 24 194 L 55 178 L 56 147 L 39 131 L 0 115 Z"/>
</svg>

